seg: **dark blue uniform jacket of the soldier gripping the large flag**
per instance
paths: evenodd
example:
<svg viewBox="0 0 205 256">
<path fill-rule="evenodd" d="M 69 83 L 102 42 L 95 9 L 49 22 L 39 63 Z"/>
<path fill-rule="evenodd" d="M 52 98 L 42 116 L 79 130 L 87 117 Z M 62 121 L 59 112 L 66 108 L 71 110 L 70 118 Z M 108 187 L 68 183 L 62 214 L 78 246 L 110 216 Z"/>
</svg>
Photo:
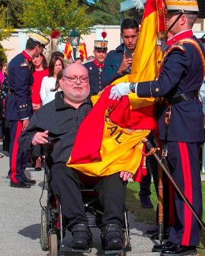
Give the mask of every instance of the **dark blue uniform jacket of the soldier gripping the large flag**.
<svg viewBox="0 0 205 256">
<path fill-rule="evenodd" d="M 195 38 L 193 36 L 195 40 Z M 202 44 L 197 40 L 202 48 Z M 166 57 L 161 75 L 156 81 L 141 82 L 137 85 L 139 97 L 173 98 L 186 92 L 200 90 L 203 69 L 200 54 L 189 43 L 183 44 L 186 52 L 173 49 Z M 168 126 L 167 140 L 175 142 L 203 142 L 203 112 L 199 99 L 189 99 L 171 106 L 172 113 Z M 165 110 L 159 116 L 159 138 L 165 138 Z"/>
</svg>

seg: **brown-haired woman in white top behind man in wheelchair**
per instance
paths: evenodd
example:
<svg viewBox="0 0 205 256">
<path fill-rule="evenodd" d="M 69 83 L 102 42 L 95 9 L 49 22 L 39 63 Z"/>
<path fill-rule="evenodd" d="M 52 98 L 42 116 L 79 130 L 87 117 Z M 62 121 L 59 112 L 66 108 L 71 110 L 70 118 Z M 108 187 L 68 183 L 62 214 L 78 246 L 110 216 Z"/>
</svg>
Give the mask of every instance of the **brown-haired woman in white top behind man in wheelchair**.
<svg viewBox="0 0 205 256">
<path fill-rule="evenodd" d="M 59 71 L 64 68 L 64 62 L 61 57 L 52 57 L 49 62 L 49 76 L 42 79 L 42 84 L 40 88 L 40 98 L 42 100 L 42 105 L 49 103 L 55 99 L 55 92 L 51 89 L 55 88 L 56 77 Z"/>
</svg>

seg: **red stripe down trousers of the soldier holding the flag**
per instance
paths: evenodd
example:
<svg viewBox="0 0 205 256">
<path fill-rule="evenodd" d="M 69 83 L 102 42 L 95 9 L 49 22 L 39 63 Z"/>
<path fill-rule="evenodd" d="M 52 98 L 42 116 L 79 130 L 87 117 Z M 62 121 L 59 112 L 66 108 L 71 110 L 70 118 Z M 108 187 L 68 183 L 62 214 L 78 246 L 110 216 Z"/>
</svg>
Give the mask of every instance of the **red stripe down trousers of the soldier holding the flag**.
<svg viewBox="0 0 205 256">
<path fill-rule="evenodd" d="M 187 197 L 192 205 L 192 181 L 191 181 L 191 167 L 189 162 L 189 153 L 187 149 L 187 143 L 179 142 L 180 156 L 182 161 L 182 172 L 184 177 L 184 195 Z M 191 222 L 192 213 L 187 204 L 184 203 L 184 233 L 182 237 L 182 245 L 189 246 L 189 240 L 191 235 Z"/>
</svg>

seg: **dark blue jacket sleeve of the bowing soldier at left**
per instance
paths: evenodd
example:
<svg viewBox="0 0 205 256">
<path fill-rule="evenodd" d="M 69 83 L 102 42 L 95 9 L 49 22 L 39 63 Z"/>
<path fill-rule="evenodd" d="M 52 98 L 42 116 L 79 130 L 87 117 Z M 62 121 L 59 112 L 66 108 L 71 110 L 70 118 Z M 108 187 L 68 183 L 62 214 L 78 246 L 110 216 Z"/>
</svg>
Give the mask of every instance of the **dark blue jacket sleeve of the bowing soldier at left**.
<svg viewBox="0 0 205 256">
<path fill-rule="evenodd" d="M 20 120 L 29 118 L 28 105 L 30 99 L 29 86 L 33 80 L 32 71 L 28 67 L 18 66 L 15 71 L 16 107 Z"/>
</svg>

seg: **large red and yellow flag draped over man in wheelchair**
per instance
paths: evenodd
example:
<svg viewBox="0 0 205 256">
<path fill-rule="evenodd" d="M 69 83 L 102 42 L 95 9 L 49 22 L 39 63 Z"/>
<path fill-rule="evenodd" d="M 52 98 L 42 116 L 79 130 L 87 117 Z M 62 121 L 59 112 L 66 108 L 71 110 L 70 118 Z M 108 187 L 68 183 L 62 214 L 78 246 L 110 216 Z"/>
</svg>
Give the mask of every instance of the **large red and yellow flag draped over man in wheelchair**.
<svg viewBox="0 0 205 256">
<path fill-rule="evenodd" d="M 163 0 L 148 0 L 131 75 L 113 82 L 156 79 L 159 54 L 159 22 L 165 15 Z M 156 130 L 154 99 L 137 98 L 131 93 L 120 101 L 109 99 L 111 86 L 93 97 L 94 107 L 81 123 L 67 166 L 90 176 L 106 176 L 125 170 L 141 181 L 141 139 Z M 138 171 L 137 171 L 138 170 Z"/>
</svg>

